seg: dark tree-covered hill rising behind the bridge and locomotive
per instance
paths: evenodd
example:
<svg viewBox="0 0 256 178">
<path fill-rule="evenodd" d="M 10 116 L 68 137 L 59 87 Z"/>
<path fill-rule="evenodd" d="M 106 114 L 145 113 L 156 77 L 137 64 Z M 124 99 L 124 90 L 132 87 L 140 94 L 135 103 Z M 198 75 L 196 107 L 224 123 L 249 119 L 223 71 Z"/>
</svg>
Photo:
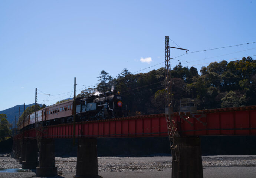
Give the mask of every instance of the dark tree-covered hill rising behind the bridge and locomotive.
<svg viewBox="0 0 256 178">
<path fill-rule="evenodd" d="M 101 71 L 98 78 L 95 89 L 104 92 L 114 86 L 129 103 L 131 114 L 164 112 L 164 68 L 139 74 L 124 69 L 116 78 Z M 196 98 L 198 110 L 256 105 L 256 60 L 251 57 L 213 62 L 199 73 L 179 63 L 171 70 L 171 78 L 174 111 L 178 111 L 181 98 Z M 93 94 L 95 89 L 79 95 Z"/>
</svg>

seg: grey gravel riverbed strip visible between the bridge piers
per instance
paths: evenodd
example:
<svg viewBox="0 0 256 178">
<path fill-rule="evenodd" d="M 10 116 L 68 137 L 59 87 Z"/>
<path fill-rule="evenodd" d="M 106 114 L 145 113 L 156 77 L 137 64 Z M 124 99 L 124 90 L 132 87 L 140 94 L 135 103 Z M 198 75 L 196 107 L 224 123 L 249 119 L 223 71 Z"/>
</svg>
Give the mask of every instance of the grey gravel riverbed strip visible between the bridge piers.
<svg viewBox="0 0 256 178">
<path fill-rule="evenodd" d="M 245 167 L 256 166 L 256 155 L 217 155 L 203 156 L 203 168 L 206 167 Z M 98 157 L 99 172 L 143 171 L 171 168 L 171 157 Z M 58 172 L 76 172 L 76 157 L 55 157 Z M 17 159 L 0 156 L 0 168 L 22 168 Z"/>
</svg>

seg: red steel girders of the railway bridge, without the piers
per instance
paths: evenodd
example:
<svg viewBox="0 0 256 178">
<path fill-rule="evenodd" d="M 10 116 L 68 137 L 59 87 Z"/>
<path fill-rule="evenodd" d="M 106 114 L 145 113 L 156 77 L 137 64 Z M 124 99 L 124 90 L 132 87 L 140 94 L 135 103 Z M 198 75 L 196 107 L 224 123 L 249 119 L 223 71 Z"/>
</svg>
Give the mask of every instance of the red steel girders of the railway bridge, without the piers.
<svg viewBox="0 0 256 178">
<path fill-rule="evenodd" d="M 182 136 L 256 135 L 256 106 L 201 110 L 203 117 L 175 112 Z M 183 119 L 184 118 L 184 119 Z M 199 119 L 197 119 L 199 118 Z M 42 130 L 43 138 L 72 138 L 73 123 L 52 125 Z M 165 114 L 138 115 L 107 120 L 75 123 L 75 137 L 167 137 Z M 23 134 L 16 136 L 16 139 Z M 35 129 L 24 132 L 36 139 Z M 15 139 L 15 138 L 14 138 Z"/>
</svg>

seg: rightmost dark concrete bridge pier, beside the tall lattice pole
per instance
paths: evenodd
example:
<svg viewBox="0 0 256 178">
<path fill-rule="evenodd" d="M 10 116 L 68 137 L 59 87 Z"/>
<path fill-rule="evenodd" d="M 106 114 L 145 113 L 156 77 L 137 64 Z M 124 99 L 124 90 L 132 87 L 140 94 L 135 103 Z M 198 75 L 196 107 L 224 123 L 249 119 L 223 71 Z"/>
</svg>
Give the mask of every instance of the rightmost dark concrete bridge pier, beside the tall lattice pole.
<svg viewBox="0 0 256 178">
<path fill-rule="evenodd" d="M 177 161 L 172 163 L 172 178 L 203 178 L 201 138 L 178 137 Z"/>
</svg>

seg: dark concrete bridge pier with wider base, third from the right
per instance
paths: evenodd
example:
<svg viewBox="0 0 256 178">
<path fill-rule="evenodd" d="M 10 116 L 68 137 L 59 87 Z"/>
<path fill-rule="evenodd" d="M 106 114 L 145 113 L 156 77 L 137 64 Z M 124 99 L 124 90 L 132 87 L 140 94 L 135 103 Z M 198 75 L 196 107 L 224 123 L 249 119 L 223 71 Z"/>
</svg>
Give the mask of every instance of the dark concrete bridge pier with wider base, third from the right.
<svg viewBox="0 0 256 178">
<path fill-rule="evenodd" d="M 55 167 L 54 139 L 42 139 L 36 176 L 50 177 L 55 175 L 57 175 L 57 167 Z"/>
</svg>

